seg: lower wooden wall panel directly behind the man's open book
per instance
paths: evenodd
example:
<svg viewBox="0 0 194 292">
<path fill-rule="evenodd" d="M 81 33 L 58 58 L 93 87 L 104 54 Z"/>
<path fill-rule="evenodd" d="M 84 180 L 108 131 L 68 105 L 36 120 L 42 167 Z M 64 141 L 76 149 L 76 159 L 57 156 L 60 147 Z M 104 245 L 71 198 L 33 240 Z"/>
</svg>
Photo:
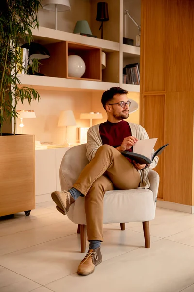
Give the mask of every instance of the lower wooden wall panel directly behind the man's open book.
<svg viewBox="0 0 194 292">
<path fill-rule="evenodd" d="M 164 106 L 165 95 L 149 95 L 143 97 L 143 123 L 146 128 L 149 138 L 158 138 L 155 146 L 157 150 L 160 146 L 164 145 Z M 163 199 L 163 164 L 164 152 L 159 156 L 159 162 L 156 170 L 160 176 L 160 185 L 158 198 Z"/>
</svg>

